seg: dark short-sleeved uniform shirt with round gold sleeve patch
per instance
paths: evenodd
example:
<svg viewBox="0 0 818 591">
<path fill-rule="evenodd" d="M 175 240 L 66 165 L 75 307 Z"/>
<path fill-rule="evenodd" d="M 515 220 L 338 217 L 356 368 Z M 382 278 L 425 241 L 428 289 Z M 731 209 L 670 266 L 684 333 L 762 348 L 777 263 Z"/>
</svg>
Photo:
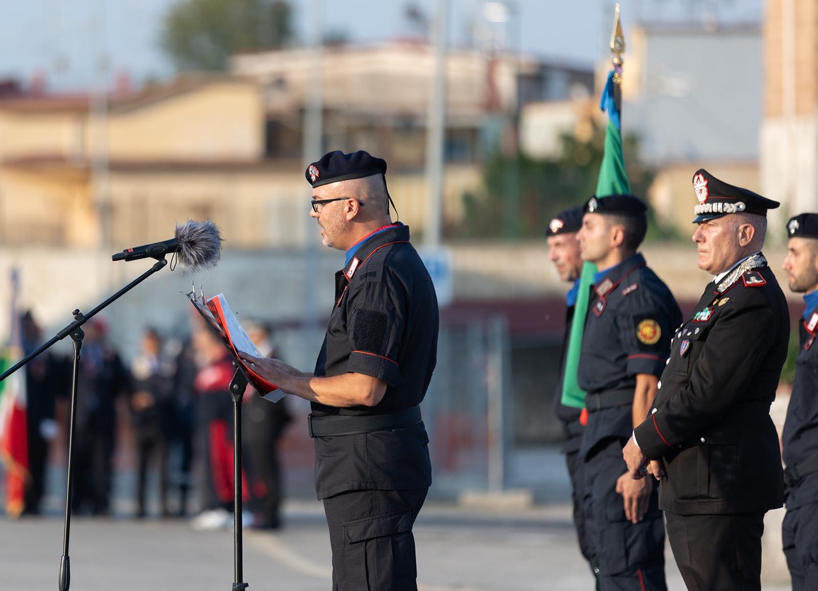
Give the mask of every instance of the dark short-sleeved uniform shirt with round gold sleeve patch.
<svg viewBox="0 0 818 591">
<path fill-rule="evenodd" d="M 672 330 L 681 323 L 681 310 L 639 253 L 610 268 L 591 289 L 579 386 L 603 397 L 627 391 L 632 395 L 636 374 L 662 375 Z M 630 437 L 631 408 L 630 404 L 600 410 L 589 407 L 580 454 L 586 456 L 606 438 Z"/>
</svg>

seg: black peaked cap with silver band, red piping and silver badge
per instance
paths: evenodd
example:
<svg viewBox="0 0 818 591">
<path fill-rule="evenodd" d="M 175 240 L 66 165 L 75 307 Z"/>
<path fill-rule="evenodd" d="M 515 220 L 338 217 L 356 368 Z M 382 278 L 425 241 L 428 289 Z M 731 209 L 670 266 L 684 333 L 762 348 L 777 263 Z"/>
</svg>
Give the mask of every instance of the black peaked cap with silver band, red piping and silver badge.
<svg viewBox="0 0 818 591">
<path fill-rule="evenodd" d="M 699 205 L 693 210 L 696 214 L 693 223 L 707 222 L 742 211 L 766 218 L 767 210 L 775 210 L 780 205 L 778 201 L 720 181 L 705 169 L 699 169 L 693 175 L 693 188 L 699 199 Z"/>
</svg>

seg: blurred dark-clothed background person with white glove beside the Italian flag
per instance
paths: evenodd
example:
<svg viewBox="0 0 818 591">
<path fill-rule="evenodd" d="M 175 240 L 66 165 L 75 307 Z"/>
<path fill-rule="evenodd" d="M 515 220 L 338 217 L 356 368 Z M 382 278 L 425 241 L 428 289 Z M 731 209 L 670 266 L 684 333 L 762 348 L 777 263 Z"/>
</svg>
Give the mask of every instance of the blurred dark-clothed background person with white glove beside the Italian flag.
<svg viewBox="0 0 818 591">
<path fill-rule="evenodd" d="M 23 314 L 23 349 L 29 354 L 42 345 L 39 324 L 29 310 Z M 24 514 L 40 512 L 46 485 L 46 462 L 58 429 L 54 420 L 58 393 L 71 387 L 66 365 L 50 351 L 39 354 L 25 366 L 26 423 L 29 445 L 30 479 L 25 488 Z"/>
</svg>

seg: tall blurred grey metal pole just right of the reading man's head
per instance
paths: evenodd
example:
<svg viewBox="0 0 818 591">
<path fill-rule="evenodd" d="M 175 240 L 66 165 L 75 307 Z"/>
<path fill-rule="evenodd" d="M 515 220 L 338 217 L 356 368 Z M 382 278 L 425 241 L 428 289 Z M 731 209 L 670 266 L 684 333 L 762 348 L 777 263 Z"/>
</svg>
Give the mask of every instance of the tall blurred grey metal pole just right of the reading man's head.
<svg viewBox="0 0 818 591">
<path fill-rule="evenodd" d="M 426 126 L 426 246 L 438 246 L 443 221 L 443 140 L 446 123 L 446 28 L 448 0 L 437 0 L 434 17 L 434 76 Z"/>
</svg>

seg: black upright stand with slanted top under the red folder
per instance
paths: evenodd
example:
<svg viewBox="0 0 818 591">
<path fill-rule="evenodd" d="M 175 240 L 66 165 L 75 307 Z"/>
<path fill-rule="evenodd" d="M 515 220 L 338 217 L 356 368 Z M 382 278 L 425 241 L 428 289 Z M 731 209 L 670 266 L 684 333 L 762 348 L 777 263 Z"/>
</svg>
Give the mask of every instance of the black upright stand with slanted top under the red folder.
<svg viewBox="0 0 818 591">
<path fill-rule="evenodd" d="M 196 299 L 194 292 L 187 295 L 191 300 Z M 205 320 L 205 324 L 210 327 L 219 341 L 223 341 L 223 337 L 218 333 L 209 319 L 202 314 L 202 311 L 196 306 L 193 306 L 196 312 L 200 314 Z M 241 361 L 233 353 L 233 351 L 225 346 L 227 352 L 233 358 L 233 367 L 236 368 L 236 373 L 233 374 L 233 379 L 230 381 L 230 396 L 233 400 L 233 586 L 231 591 L 242 591 L 247 589 L 249 584 L 242 583 L 244 578 L 242 566 L 244 557 L 242 553 L 242 523 L 241 523 L 241 399 L 245 395 L 245 390 L 249 384 L 245 370 L 241 368 Z"/>
</svg>

